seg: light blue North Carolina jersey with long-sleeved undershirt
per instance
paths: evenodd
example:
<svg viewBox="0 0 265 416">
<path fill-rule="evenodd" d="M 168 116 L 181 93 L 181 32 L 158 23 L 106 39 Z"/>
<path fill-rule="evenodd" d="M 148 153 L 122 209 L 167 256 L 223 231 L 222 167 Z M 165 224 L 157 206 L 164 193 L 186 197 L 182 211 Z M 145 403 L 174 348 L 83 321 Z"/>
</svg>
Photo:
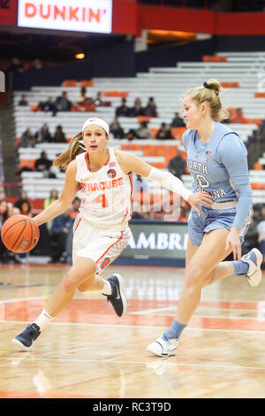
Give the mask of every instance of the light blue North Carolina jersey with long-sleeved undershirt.
<svg viewBox="0 0 265 416">
<path fill-rule="evenodd" d="M 187 167 L 193 175 L 193 192 L 207 191 L 215 202 L 238 200 L 234 227 L 243 227 L 252 205 L 246 146 L 239 135 L 216 121 L 208 143 L 201 143 L 197 130 L 186 130 L 182 141 Z"/>
</svg>

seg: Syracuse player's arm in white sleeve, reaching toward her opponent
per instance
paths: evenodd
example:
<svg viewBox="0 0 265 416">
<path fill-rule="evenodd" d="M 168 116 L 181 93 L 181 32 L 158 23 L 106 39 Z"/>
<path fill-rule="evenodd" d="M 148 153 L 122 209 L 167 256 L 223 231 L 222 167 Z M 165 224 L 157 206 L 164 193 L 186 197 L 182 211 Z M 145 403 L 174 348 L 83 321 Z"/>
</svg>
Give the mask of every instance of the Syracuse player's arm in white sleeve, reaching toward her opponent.
<svg viewBox="0 0 265 416">
<path fill-rule="evenodd" d="M 170 172 L 163 172 L 148 165 L 148 163 L 133 155 L 133 153 L 117 150 L 117 161 L 125 173 L 133 172 L 140 174 L 140 176 L 150 181 L 158 182 L 163 188 L 182 196 L 199 214 L 200 211 L 197 205 L 201 204 L 211 207 L 214 202 L 213 196 L 210 196 L 207 192 L 193 193 L 191 190 L 186 189 L 184 183 Z"/>
</svg>

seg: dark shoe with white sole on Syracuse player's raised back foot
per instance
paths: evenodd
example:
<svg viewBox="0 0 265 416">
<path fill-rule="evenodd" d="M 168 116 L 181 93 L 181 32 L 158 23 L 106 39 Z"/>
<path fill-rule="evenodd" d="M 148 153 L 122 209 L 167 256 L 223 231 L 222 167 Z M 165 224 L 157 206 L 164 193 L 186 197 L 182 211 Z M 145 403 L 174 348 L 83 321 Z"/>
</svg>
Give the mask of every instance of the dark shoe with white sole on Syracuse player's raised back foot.
<svg viewBox="0 0 265 416">
<path fill-rule="evenodd" d="M 114 273 L 109 277 L 108 281 L 111 286 L 111 295 L 104 295 L 107 297 L 108 302 L 112 304 L 117 316 L 122 317 L 127 309 L 127 303 L 125 298 L 125 292 L 123 289 L 123 279 L 120 274 Z"/>
</svg>

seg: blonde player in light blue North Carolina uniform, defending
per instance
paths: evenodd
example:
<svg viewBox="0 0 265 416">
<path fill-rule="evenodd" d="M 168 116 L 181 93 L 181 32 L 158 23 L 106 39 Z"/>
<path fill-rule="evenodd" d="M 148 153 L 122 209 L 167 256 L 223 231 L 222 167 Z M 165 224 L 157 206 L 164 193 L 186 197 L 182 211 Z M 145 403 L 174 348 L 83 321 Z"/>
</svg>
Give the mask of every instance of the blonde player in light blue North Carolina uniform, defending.
<svg viewBox="0 0 265 416">
<path fill-rule="evenodd" d="M 221 124 L 220 83 L 209 80 L 183 99 L 187 130 L 183 144 L 193 175 L 193 192 L 215 198 L 212 207 L 190 212 L 184 288 L 176 319 L 147 351 L 175 355 L 178 339 L 201 300 L 201 289 L 232 274 L 246 276 L 251 286 L 261 282 L 262 255 L 257 249 L 241 258 L 241 243 L 252 217 L 252 190 L 246 147 L 239 135 Z M 233 261 L 222 261 L 233 252 Z"/>
</svg>

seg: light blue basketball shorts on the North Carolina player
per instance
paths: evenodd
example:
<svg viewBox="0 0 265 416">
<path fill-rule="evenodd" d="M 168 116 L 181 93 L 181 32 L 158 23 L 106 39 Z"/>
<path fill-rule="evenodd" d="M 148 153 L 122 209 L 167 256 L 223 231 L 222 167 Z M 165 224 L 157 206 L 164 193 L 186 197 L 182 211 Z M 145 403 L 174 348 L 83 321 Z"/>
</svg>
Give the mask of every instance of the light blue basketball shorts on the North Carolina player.
<svg viewBox="0 0 265 416">
<path fill-rule="evenodd" d="M 199 216 L 192 208 L 188 219 L 189 237 L 193 245 L 201 245 L 203 235 L 208 233 L 208 231 L 218 228 L 231 229 L 237 212 L 236 208 L 213 210 L 202 205 L 199 205 L 198 208 L 201 215 Z M 241 229 L 241 243 L 244 242 L 246 231 L 252 219 L 252 213 L 253 210 L 251 209 Z"/>
</svg>

